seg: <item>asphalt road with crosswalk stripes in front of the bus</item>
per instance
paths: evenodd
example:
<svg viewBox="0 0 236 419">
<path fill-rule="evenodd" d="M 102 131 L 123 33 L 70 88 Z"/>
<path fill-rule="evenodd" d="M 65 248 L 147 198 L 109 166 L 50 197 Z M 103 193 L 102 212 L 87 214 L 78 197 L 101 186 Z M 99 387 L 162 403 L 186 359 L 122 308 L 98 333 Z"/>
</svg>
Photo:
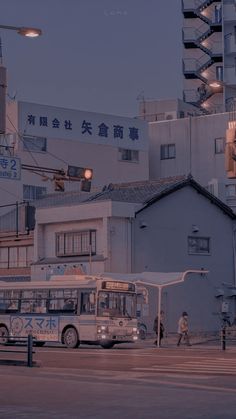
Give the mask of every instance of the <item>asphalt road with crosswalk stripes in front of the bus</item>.
<svg viewBox="0 0 236 419">
<path fill-rule="evenodd" d="M 236 347 L 47 346 L 34 359 L 0 364 L 1 419 L 236 418 Z"/>
</svg>

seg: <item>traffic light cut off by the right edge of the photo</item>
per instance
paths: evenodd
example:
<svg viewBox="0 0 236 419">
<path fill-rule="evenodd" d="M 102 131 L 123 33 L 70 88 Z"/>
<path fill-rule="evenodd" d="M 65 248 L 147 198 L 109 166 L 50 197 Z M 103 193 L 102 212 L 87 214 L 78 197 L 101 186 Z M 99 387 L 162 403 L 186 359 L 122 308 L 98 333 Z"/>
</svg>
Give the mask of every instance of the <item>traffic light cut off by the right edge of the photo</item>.
<svg viewBox="0 0 236 419">
<path fill-rule="evenodd" d="M 236 178 L 236 129 L 226 130 L 225 169 L 229 179 Z"/>
</svg>

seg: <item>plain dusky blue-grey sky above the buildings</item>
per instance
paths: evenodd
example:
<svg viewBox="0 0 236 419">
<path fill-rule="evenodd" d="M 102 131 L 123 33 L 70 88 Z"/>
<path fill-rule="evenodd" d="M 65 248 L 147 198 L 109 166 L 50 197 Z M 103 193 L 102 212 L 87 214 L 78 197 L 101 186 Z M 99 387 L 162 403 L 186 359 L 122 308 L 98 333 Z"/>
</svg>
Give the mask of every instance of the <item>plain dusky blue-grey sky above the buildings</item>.
<svg viewBox="0 0 236 419">
<path fill-rule="evenodd" d="M 124 116 L 137 97 L 182 96 L 180 0 L 0 0 L 8 94 L 17 100 Z"/>
</svg>

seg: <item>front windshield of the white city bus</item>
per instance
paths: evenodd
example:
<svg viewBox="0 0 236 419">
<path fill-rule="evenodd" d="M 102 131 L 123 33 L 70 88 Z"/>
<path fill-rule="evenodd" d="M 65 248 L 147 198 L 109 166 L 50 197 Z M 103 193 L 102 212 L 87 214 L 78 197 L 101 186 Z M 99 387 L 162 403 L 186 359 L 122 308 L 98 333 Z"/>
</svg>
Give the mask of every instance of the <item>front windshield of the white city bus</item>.
<svg viewBox="0 0 236 419">
<path fill-rule="evenodd" d="M 98 293 L 98 316 L 102 317 L 136 317 L 136 295 L 124 292 Z"/>
</svg>

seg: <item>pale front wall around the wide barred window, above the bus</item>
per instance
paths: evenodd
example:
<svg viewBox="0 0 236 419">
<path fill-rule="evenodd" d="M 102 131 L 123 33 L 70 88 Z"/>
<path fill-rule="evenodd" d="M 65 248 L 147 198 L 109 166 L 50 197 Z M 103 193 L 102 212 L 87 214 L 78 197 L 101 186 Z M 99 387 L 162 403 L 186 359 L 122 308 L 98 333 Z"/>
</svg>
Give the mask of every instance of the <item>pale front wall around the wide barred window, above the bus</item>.
<svg viewBox="0 0 236 419">
<path fill-rule="evenodd" d="M 83 265 L 85 273 L 131 272 L 131 229 L 135 208 L 122 202 L 94 202 L 68 207 L 38 208 L 32 280 L 48 279 L 63 266 Z M 56 233 L 96 230 L 96 255 L 57 257 Z"/>
</svg>

